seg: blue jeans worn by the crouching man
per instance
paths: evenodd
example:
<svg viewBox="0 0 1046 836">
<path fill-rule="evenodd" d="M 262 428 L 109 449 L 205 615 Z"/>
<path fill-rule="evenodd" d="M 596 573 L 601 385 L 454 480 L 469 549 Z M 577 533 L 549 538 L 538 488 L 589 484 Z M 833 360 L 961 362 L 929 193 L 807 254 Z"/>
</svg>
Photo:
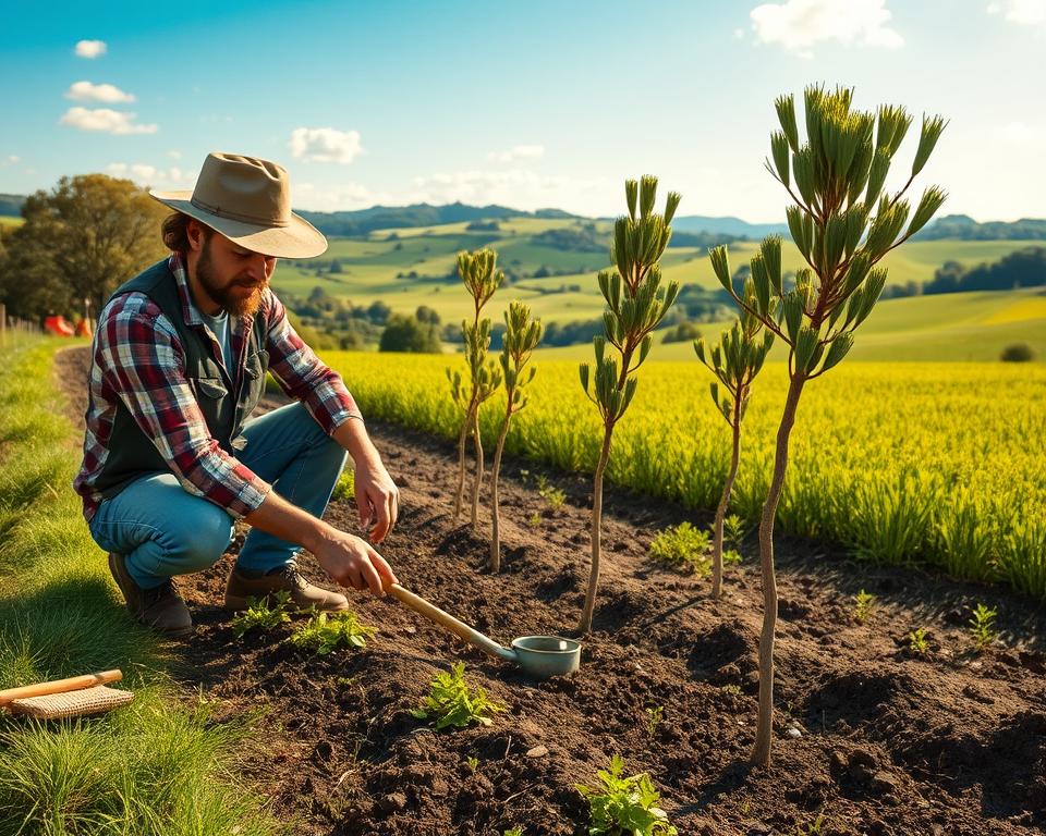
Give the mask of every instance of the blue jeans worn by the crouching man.
<svg viewBox="0 0 1046 836">
<path fill-rule="evenodd" d="M 250 420 L 238 458 L 288 502 L 323 516 L 345 464 L 345 451 L 301 404 Z M 127 571 L 145 589 L 173 575 L 212 566 L 232 540 L 232 517 L 194 496 L 169 471 L 131 482 L 106 500 L 90 520 L 90 536 L 107 552 L 126 556 Z M 291 563 L 299 545 L 251 529 L 236 565 L 269 571 Z"/>
</svg>

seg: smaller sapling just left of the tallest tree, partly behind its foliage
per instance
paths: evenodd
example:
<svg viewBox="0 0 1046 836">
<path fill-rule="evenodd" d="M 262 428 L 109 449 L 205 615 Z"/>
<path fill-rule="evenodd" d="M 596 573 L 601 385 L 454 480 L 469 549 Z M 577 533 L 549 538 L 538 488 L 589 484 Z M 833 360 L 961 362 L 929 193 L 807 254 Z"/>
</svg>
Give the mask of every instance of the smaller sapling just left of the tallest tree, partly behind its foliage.
<svg viewBox="0 0 1046 836">
<path fill-rule="evenodd" d="M 755 285 L 749 279 L 744 287 L 744 297 L 753 305 Z M 759 337 L 759 332 L 763 332 Z M 727 483 L 722 489 L 719 506 L 716 508 L 716 521 L 713 527 L 711 550 L 711 597 L 718 601 L 722 591 L 722 520 L 727 516 L 730 505 L 730 494 L 733 482 L 738 478 L 738 464 L 741 459 L 741 421 L 749 406 L 749 396 L 752 391 L 752 381 L 763 368 L 767 352 L 774 345 L 774 334 L 764 330 L 763 322 L 746 310 L 733 323 L 729 331 L 725 331 L 719 342 L 708 346 L 704 339 L 694 343 L 694 351 L 700 359 L 719 379 L 726 394 L 720 394 L 719 383 L 711 383 L 711 399 L 716 408 L 722 414 L 730 426 L 733 444 L 730 453 L 730 471 L 727 474 Z"/>
</svg>

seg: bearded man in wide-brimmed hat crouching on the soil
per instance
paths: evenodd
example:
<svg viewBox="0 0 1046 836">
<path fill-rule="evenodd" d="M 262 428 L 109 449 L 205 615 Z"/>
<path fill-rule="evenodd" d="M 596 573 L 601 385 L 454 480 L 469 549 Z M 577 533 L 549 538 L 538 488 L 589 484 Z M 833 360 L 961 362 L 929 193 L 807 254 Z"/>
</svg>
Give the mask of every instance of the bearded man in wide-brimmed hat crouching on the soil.
<svg viewBox="0 0 1046 836">
<path fill-rule="evenodd" d="M 396 525 L 396 484 L 341 378 L 269 288 L 277 257 L 318 256 L 326 238 L 291 212 L 287 172 L 265 160 L 212 153 L 192 193 L 150 194 L 174 209 L 163 223 L 171 256 L 117 288 L 99 316 L 73 483 L 127 608 L 160 634 L 190 634 L 171 578 L 214 565 L 235 519 L 252 531 L 227 608 L 280 591 L 301 608 L 346 608 L 302 577 L 300 546 L 338 583 L 381 594 L 396 580 L 389 565 L 320 517 L 345 451 L 375 543 Z M 299 403 L 247 420 L 267 371 Z"/>
</svg>

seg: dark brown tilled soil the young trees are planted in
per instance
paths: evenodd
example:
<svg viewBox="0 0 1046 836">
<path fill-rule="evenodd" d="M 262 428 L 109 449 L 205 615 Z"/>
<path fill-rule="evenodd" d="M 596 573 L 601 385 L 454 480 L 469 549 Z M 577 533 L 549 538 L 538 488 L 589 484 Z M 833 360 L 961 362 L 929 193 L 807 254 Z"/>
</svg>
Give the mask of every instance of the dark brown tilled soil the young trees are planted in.
<svg viewBox="0 0 1046 836">
<path fill-rule="evenodd" d="M 81 426 L 85 361 L 83 351 L 59 358 Z M 451 446 L 397 427 L 369 430 L 401 489 L 400 521 L 380 551 L 404 586 L 502 642 L 575 625 L 588 570 L 587 477 L 547 472 L 567 492 L 556 509 L 523 477 L 538 468 L 506 463 L 503 570 L 492 576 L 487 511 L 476 536 L 452 519 Z M 818 815 L 814 832 L 838 836 L 1046 829 L 1041 606 L 782 540 L 774 764 L 752 770 L 757 545 L 746 544 L 713 602 L 707 579 L 646 557 L 656 531 L 706 525 L 707 515 L 618 490 L 605 507 L 595 631 L 570 678 L 528 681 L 394 601 L 358 593 L 361 618 L 379 630 L 364 650 L 308 657 L 283 641 L 290 627 L 238 640 L 220 608 L 231 554 L 181 580 L 199 628 L 179 651 L 177 675 L 217 705 L 219 722 L 266 710 L 256 724 L 269 754 L 251 777 L 295 833 L 584 834 L 587 806 L 574 785 L 593 784 L 615 753 L 629 774 L 649 773 L 680 834 L 791 836 Z M 350 503 L 333 503 L 326 518 L 357 531 Z M 303 565 L 319 579 L 309 555 Z M 864 625 L 853 618 L 861 589 L 878 600 Z M 1002 630 L 984 653 L 965 631 L 978 601 L 998 607 Z M 917 627 L 929 637 L 923 656 L 904 641 Z M 488 728 L 436 734 L 410 712 L 457 660 L 508 711 Z M 655 706 L 664 718 L 650 734 L 645 710 Z"/>
</svg>

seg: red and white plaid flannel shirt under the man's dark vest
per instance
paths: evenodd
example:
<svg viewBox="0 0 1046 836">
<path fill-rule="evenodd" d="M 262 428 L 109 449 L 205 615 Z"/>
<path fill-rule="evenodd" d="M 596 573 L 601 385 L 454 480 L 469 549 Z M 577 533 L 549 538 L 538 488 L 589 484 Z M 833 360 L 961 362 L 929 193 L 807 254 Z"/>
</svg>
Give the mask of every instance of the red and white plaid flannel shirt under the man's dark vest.
<svg viewBox="0 0 1046 836">
<path fill-rule="evenodd" d="M 215 360 L 221 347 L 192 303 L 185 267 L 178 254 L 168 262 L 178 283 L 185 323 L 207 334 Z M 350 418 L 363 419 L 341 377 L 305 345 L 287 318 L 283 304 L 266 288 L 257 317 L 265 317 L 269 371 L 280 388 L 301 401 L 331 434 Z M 230 322 L 236 367 L 227 369 L 236 386 L 243 373 L 252 317 Z M 184 354 L 171 321 L 148 296 L 125 293 L 112 299 L 98 318 L 92 346 L 89 401 L 84 462 L 73 481 L 89 521 L 101 504 L 94 481 L 106 464 L 117 402 L 122 401 L 138 427 L 156 444 L 182 488 L 224 508 L 239 519 L 257 508 L 271 485 L 223 451 L 210 434 L 193 390 L 185 379 Z M 115 442 L 115 443 L 119 443 Z"/>
</svg>

